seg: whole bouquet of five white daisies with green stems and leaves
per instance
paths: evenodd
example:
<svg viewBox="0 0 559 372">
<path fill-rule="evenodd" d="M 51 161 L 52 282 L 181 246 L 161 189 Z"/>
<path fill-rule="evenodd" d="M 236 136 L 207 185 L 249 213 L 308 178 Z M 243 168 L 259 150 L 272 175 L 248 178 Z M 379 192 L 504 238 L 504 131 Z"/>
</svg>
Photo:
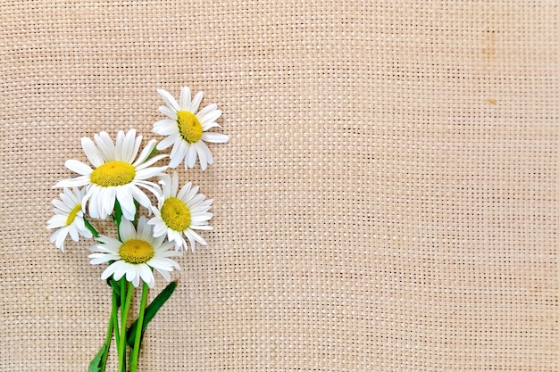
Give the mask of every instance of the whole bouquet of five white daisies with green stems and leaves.
<svg viewBox="0 0 559 372">
<path fill-rule="evenodd" d="M 228 136 L 208 129 L 220 127 L 216 120 L 221 111 L 210 104 L 198 111 L 203 93 L 191 98 L 190 89 L 182 87 L 177 102 L 167 91 L 158 90 L 164 106 L 159 108 L 167 119 L 154 123 L 154 132 L 165 136 L 156 144 L 152 139 L 142 149 L 142 136 L 135 129 L 120 131 L 113 139 L 101 132 L 91 140 L 81 139 L 89 164 L 69 160 L 66 168 L 77 173 L 54 185 L 63 188 L 60 200 L 54 200 L 54 216 L 47 228 L 56 229 L 51 237 L 64 251 L 64 241 L 70 235 L 95 239 L 91 246 L 91 264 L 107 265 L 101 274 L 110 286 L 113 301 L 105 342 L 89 365 L 89 372 L 104 372 L 111 343 L 115 341 L 119 372 L 138 370 L 142 337 L 149 321 L 173 293 L 177 283 L 171 282 L 171 271 L 180 269 L 175 260 L 195 244 L 205 245 L 198 232 L 210 230 L 209 212 L 213 200 L 198 193 L 198 186 L 180 186 L 176 172 L 184 161 L 185 169 L 196 161 L 202 170 L 213 164 L 206 142 L 225 143 Z M 157 153 L 172 146 L 171 153 Z M 169 158 L 167 165 L 158 165 Z M 180 186 L 180 188 L 179 188 Z M 146 194 L 147 193 L 147 194 Z M 156 205 L 148 194 L 154 195 Z M 142 207 L 142 208 L 140 208 Z M 95 219 L 112 219 L 116 236 L 100 234 Z M 147 294 L 154 287 L 154 271 L 171 282 L 154 300 L 147 303 Z M 142 285 L 140 306 L 131 322 L 130 303 L 134 290 Z M 130 324 L 130 325 L 129 325 Z"/>
</svg>

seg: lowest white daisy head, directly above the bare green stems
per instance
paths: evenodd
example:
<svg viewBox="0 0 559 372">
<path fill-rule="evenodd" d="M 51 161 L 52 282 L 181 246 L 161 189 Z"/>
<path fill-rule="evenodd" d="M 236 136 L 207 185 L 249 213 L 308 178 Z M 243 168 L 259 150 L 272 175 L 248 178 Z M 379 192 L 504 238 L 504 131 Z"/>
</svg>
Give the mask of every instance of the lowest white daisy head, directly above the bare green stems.
<svg viewBox="0 0 559 372">
<path fill-rule="evenodd" d="M 173 269 L 180 269 L 179 264 L 169 257 L 180 256 L 175 251 L 173 244 L 163 244 L 164 236 L 154 237 L 152 227 L 147 225 L 147 219 L 142 216 L 138 219 L 138 230 L 132 222 L 121 220 L 119 232 L 122 242 L 109 236 L 98 236 L 99 244 L 91 247 L 95 252 L 89 255 L 92 265 L 113 261 L 101 275 L 102 279 L 113 276 L 119 280 L 126 276 L 126 280 L 134 286 L 139 285 L 142 279 L 150 288 L 154 287 L 154 273 L 157 270 L 168 282 L 169 274 Z"/>
</svg>

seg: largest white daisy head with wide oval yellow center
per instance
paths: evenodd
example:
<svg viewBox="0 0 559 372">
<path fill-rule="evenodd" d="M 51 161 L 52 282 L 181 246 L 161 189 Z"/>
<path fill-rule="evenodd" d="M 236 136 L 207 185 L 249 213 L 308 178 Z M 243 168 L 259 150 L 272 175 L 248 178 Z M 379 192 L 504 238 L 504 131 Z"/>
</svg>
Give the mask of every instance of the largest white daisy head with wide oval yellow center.
<svg viewBox="0 0 559 372">
<path fill-rule="evenodd" d="M 167 167 L 150 166 L 167 155 L 149 158 L 155 147 L 155 140 L 152 139 L 134 161 L 142 142 L 142 136 L 137 137 L 135 129 L 130 129 L 126 135 L 121 130 L 116 136 L 116 145 L 106 132 L 95 135 L 94 139 L 95 143 L 88 137 L 81 138 L 81 147 L 95 169 L 81 161 L 66 161 L 66 168 L 80 176 L 64 179 L 54 187 L 85 186 L 86 194 L 81 203 L 85 205 L 89 202 L 89 215 L 95 219 L 105 219 L 113 211 L 117 200 L 125 219 L 134 219 L 134 200 L 151 211 L 149 198 L 138 186 L 157 194 L 155 189 L 159 186 L 147 179 L 161 176 Z"/>
</svg>

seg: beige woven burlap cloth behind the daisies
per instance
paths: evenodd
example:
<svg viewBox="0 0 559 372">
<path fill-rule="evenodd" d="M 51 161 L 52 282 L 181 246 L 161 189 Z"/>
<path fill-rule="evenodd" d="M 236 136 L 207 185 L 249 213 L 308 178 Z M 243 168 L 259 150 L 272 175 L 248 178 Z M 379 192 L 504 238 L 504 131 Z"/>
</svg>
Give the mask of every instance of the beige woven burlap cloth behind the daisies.
<svg viewBox="0 0 559 372">
<path fill-rule="evenodd" d="M 81 136 L 161 139 L 156 89 L 182 85 L 230 141 L 180 169 L 214 230 L 143 371 L 558 370 L 558 20 L 552 0 L 2 2 L 0 370 L 86 370 L 110 293 L 91 241 L 49 244 L 51 186 Z"/>
</svg>

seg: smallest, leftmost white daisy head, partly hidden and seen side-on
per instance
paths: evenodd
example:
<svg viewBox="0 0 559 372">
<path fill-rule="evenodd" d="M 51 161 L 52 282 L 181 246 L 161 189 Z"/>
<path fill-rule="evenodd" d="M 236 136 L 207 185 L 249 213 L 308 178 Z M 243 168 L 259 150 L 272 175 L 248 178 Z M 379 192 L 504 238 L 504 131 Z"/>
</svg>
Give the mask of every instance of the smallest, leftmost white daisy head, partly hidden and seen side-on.
<svg viewBox="0 0 559 372">
<path fill-rule="evenodd" d="M 70 234 L 74 242 L 79 240 L 79 236 L 91 238 L 91 231 L 86 227 L 83 219 L 83 210 L 81 200 L 83 199 L 85 190 L 79 190 L 73 187 L 73 191 L 64 187 L 63 193 L 60 194 L 60 200 L 54 200 L 54 216 L 48 220 L 46 228 L 57 228 L 51 236 L 51 243 L 56 242 L 56 247 L 64 252 L 64 240 Z"/>
</svg>

